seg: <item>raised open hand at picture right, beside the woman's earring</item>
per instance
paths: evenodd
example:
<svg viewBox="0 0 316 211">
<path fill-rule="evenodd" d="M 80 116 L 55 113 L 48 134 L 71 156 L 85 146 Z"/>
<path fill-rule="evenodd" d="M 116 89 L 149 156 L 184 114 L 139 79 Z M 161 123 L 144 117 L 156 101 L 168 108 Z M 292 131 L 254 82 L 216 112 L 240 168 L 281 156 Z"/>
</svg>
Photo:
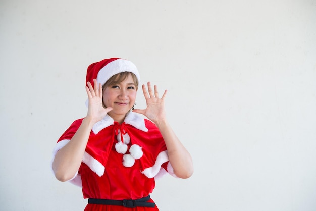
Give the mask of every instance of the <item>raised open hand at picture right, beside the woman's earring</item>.
<svg viewBox="0 0 316 211">
<path fill-rule="evenodd" d="M 162 98 L 159 98 L 158 88 L 154 85 L 152 90 L 150 82 L 147 83 L 148 92 L 145 85 L 142 85 L 144 97 L 146 99 L 146 109 L 134 109 L 133 112 L 145 115 L 149 120 L 155 124 L 166 120 L 165 113 L 165 97 L 167 90 L 165 90 Z"/>
</svg>

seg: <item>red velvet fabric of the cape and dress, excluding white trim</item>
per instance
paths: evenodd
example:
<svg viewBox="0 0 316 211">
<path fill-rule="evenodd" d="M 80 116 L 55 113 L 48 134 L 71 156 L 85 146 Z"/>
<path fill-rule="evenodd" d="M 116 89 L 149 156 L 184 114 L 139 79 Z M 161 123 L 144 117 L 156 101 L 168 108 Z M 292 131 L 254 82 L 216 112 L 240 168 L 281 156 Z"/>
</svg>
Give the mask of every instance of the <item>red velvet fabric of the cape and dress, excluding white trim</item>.
<svg viewBox="0 0 316 211">
<path fill-rule="evenodd" d="M 122 160 L 123 154 L 115 149 L 118 142 L 115 130 L 116 124 L 110 125 L 97 134 L 92 131 L 86 147 L 86 152 L 94 159 L 99 161 L 104 167 L 105 172 L 98 176 L 91 168 L 82 163 L 79 168 L 79 174 L 82 180 L 82 192 L 84 198 L 102 198 L 102 199 L 139 199 L 146 197 L 152 192 L 155 186 L 154 178 L 148 178 L 141 172 L 152 167 L 155 164 L 157 155 L 165 151 L 166 145 L 159 129 L 149 120 L 143 119 L 148 132 L 144 132 L 132 125 L 125 124 L 125 132 L 130 136 L 130 143 L 138 144 L 142 147 L 143 156 L 135 160 L 132 167 L 124 167 Z M 69 129 L 60 137 L 59 141 L 71 139 L 82 119 L 76 120 Z M 166 162 L 162 168 L 166 169 Z M 134 209 L 115 205 L 96 205 L 88 204 L 87 210 L 158 210 L 150 207 L 136 207 Z"/>
</svg>

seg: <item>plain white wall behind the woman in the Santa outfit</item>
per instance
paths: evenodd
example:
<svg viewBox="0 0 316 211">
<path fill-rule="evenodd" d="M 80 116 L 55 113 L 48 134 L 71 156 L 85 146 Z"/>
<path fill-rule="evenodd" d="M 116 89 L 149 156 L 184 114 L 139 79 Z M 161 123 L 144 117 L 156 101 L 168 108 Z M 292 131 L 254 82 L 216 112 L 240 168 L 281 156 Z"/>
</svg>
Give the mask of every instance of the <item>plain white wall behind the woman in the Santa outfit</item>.
<svg viewBox="0 0 316 211">
<path fill-rule="evenodd" d="M 162 211 L 316 210 L 315 0 L 1 0 L 0 38 L 1 210 L 84 209 L 49 164 L 109 57 L 168 89 L 192 154 L 191 178 L 157 181 Z"/>
</svg>

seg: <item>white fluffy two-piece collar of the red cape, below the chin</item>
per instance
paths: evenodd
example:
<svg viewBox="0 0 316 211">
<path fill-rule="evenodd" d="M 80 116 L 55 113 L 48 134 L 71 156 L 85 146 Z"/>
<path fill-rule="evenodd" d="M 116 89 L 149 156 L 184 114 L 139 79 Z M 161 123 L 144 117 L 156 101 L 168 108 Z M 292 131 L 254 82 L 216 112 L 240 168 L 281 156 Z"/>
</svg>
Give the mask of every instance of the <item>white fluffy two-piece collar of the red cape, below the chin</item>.
<svg viewBox="0 0 316 211">
<path fill-rule="evenodd" d="M 126 124 L 132 125 L 135 128 L 142 130 L 144 132 L 148 132 L 148 128 L 145 125 L 145 119 L 142 115 L 129 112 L 124 120 Z M 98 134 L 102 129 L 109 127 L 114 124 L 114 120 L 109 115 L 106 115 L 102 120 L 95 123 L 92 127 L 92 131 L 94 134 Z"/>
</svg>

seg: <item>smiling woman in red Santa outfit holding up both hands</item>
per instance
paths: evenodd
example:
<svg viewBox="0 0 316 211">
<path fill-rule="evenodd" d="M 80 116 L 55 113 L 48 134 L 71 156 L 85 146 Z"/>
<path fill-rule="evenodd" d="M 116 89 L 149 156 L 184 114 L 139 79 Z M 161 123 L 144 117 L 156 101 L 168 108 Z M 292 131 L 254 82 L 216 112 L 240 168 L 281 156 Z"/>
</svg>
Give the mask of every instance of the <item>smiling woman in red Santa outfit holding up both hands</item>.
<svg viewBox="0 0 316 211">
<path fill-rule="evenodd" d="M 111 58 L 87 70 L 88 112 L 60 137 L 52 169 L 60 181 L 82 187 L 85 211 L 159 210 L 149 194 L 168 172 L 193 174 L 189 152 L 165 113 L 167 90 L 142 85 L 146 109 L 134 109 L 139 73 L 125 59 Z M 146 117 L 146 118 L 145 118 Z"/>
</svg>

